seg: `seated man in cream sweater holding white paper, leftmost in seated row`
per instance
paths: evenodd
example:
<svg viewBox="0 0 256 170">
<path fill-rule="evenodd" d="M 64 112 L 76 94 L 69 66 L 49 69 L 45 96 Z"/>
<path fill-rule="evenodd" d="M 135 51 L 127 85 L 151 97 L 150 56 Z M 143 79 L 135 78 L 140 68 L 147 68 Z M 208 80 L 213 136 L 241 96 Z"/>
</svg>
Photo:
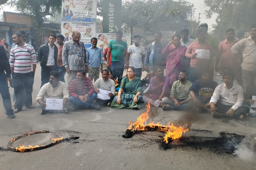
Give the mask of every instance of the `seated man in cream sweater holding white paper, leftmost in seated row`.
<svg viewBox="0 0 256 170">
<path fill-rule="evenodd" d="M 47 112 L 68 113 L 66 108 L 69 104 L 68 87 L 59 81 L 58 71 L 51 71 L 49 75 L 49 82 L 41 87 L 36 97 L 37 108 L 42 109 L 41 115 L 45 115 Z M 43 101 L 44 96 L 46 96 L 46 101 Z"/>
</svg>

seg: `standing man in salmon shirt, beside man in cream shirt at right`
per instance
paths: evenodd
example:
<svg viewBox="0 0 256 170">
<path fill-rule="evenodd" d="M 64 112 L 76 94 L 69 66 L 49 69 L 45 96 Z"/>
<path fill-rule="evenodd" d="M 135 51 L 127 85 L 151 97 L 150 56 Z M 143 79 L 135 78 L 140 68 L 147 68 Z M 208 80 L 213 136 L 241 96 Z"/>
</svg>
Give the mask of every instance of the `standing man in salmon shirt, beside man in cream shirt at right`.
<svg viewBox="0 0 256 170">
<path fill-rule="evenodd" d="M 232 28 L 226 30 L 226 40 L 220 43 L 219 45 L 219 54 L 220 58 L 217 58 L 215 64 L 215 71 L 219 71 L 219 61 L 220 61 L 220 69 L 224 69 L 226 67 L 232 68 L 236 77 L 240 78 L 241 67 L 239 64 L 239 60 L 241 56 L 237 57 L 235 54 L 231 53 L 231 47 L 239 42 L 235 37 L 235 31 Z"/>
</svg>

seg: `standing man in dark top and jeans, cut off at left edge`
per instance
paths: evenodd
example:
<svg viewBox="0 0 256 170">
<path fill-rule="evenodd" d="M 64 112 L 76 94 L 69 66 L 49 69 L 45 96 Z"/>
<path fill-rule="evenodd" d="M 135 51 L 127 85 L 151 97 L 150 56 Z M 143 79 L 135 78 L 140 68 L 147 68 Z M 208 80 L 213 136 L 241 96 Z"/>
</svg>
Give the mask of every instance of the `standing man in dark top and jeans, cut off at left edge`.
<svg viewBox="0 0 256 170">
<path fill-rule="evenodd" d="M 13 87 L 11 69 L 3 45 L 0 45 L 0 53 L 0 93 L 3 98 L 5 114 L 8 116 L 8 118 L 12 119 L 15 118 L 15 115 L 13 114 L 12 102 L 8 88 L 8 81 L 10 86 Z"/>
</svg>

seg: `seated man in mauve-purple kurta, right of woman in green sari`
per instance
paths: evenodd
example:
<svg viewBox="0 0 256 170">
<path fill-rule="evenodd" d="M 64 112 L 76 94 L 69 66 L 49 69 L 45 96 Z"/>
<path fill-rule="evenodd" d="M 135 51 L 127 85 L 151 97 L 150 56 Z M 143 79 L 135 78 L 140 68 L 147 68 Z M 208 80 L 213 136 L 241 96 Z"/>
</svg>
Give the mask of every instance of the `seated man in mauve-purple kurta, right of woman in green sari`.
<svg viewBox="0 0 256 170">
<path fill-rule="evenodd" d="M 149 95 L 143 96 L 145 102 L 150 101 L 150 104 L 155 107 L 163 107 L 164 104 L 168 103 L 169 94 L 169 83 L 170 78 L 164 76 L 164 70 L 161 66 L 156 69 L 156 76 L 152 77 L 150 80 L 150 90 Z"/>
</svg>

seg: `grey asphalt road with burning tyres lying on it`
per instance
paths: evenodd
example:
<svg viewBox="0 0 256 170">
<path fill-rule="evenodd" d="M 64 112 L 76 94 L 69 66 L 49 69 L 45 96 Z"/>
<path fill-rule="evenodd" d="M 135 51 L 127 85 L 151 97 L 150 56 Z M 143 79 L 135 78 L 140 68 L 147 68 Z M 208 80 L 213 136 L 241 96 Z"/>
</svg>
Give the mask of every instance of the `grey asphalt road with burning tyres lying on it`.
<svg viewBox="0 0 256 170">
<path fill-rule="evenodd" d="M 36 105 L 39 87 L 40 65 L 37 64 L 32 94 L 33 105 Z M 12 97 L 11 88 L 10 93 Z M 40 115 L 39 109 L 24 107 L 16 114 L 15 119 L 8 119 L 4 114 L 1 98 L 0 110 L 1 170 L 256 169 L 253 149 L 242 149 L 245 151 L 240 155 L 242 159 L 234 154 L 225 153 L 224 150 L 222 152 L 214 148 L 209 149 L 203 145 L 198 148 L 188 144 L 163 149 L 161 140 L 164 133 L 158 131 L 147 131 L 135 134 L 129 139 L 123 138 L 122 134 L 128 127 L 128 122 L 136 121 L 145 109 L 134 111 L 105 107 L 101 111 L 80 110 L 69 114 Z M 163 125 L 169 121 L 175 122 L 182 116 L 188 117 L 188 113 L 185 112 L 163 112 L 162 109 L 153 107 L 150 115 L 151 120 L 154 119 Z M 243 121 L 214 119 L 208 114 L 195 115 L 193 118 L 191 130 L 184 134 L 188 139 L 195 136 L 219 137 L 221 131 L 246 136 L 254 134 L 256 137 L 255 118 L 246 117 Z M 52 133 L 24 137 L 13 145 L 44 145 L 52 142 L 52 137 L 60 136 L 80 138 L 32 152 L 18 153 L 7 149 L 7 143 L 12 138 L 37 130 L 49 130 Z M 253 140 L 250 139 L 250 142 L 254 142 Z"/>
</svg>

